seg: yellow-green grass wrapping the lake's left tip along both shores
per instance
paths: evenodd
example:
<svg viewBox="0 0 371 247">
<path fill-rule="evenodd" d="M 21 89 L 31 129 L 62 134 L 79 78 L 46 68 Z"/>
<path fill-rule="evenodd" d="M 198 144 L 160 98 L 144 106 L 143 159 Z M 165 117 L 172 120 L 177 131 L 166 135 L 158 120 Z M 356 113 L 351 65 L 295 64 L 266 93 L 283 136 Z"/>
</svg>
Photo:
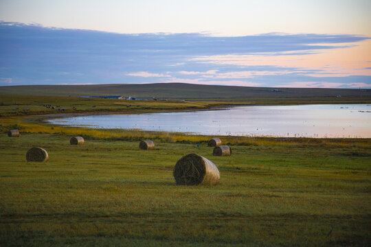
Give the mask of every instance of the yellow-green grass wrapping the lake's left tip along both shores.
<svg viewBox="0 0 371 247">
<path fill-rule="evenodd" d="M 285 100 L 286 104 L 297 104 L 300 100 L 309 100 L 312 104 L 322 100 L 321 98 L 286 98 L 286 99 L 238 99 L 233 104 L 278 104 Z M 236 99 L 234 99 L 236 100 Z M 328 101 L 328 98 L 323 100 Z M 63 113 L 82 114 L 82 113 L 152 113 L 168 110 L 194 110 L 210 108 L 212 106 L 223 106 L 232 104 L 231 102 L 214 101 L 190 102 L 190 101 L 133 101 L 120 99 L 98 99 L 80 97 L 50 97 L 50 96 L 27 96 L 27 95 L 1 95 L 0 105 L 0 132 L 8 132 L 9 129 L 19 128 L 21 132 L 29 133 L 59 133 L 70 135 L 82 135 L 91 139 L 115 139 L 126 141 L 137 141 L 139 139 L 155 139 L 167 143 L 203 143 L 210 137 L 195 136 L 182 133 L 168 132 L 146 132 L 139 130 L 94 130 L 89 128 L 71 128 L 63 126 L 52 126 L 45 124 L 44 116 L 36 117 L 36 114 L 47 114 L 51 116 L 62 116 Z M 65 108 L 62 113 L 60 110 L 45 108 L 44 105 L 59 106 Z M 130 107 L 127 107 L 129 106 Z M 94 106 L 94 107 L 93 107 Z M 13 110 L 18 107 L 18 110 Z M 72 108 L 76 107 L 76 110 Z M 23 110 L 27 109 L 29 110 Z M 2 117 L 1 117 L 2 116 Z M 368 140 L 354 141 L 353 139 L 300 139 L 300 138 L 261 138 L 261 137 L 223 137 L 223 143 L 232 145 L 333 145 L 336 147 L 357 145 L 370 147 Z"/>
</svg>

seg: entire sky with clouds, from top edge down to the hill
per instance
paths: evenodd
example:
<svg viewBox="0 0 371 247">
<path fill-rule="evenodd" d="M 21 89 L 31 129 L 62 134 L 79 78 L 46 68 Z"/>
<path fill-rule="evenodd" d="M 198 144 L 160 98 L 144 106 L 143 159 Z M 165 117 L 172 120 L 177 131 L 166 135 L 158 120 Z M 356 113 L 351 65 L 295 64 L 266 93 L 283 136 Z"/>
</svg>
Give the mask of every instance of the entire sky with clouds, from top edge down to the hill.
<svg viewBox="0 0 371 247">
<path fill-rule="evenodd" d="M 371 1 L 0 1 L 0 86 L 371 88 Z"/>
</svg>

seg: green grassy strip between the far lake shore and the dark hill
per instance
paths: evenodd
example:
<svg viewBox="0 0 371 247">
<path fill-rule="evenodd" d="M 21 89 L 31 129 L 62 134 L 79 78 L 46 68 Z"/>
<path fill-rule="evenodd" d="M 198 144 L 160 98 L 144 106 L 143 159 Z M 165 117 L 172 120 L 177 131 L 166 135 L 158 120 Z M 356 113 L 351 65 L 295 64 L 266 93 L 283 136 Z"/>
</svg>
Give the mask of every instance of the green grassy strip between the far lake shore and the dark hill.
<svg viewBox="0 0 371 247">
<path fill-rule="evenodd" d="M 153 113 L 228 105 L 371 104 L 370 97 L 282 97 L 172 100 L 122 100 L 66 96 L 1 95 L 0 117 L 60 113 Z M 47 108 L 46 105 L 50 105 Z"/>
</svg>

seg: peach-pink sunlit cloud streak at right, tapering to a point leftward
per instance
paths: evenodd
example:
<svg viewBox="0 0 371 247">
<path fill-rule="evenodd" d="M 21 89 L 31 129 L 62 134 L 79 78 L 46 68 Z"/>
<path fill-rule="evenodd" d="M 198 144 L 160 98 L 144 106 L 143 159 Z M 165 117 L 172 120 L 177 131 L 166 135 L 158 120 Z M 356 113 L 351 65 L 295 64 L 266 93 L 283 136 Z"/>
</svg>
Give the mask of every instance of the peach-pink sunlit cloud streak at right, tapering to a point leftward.
<svg viewBox="0 0 371 247">
<path fill-rule="evenodd" d="M 298 51 L 295 51 L 298 52 Z M 354 44 L 344 44 L 344 47 L 303 51 L 303 54 L 293 52 L 259 53 L 245 55 L 199 56 L 192 61 L 234 66 L 273 66 L 287 67 L 295 73 L 315 77 L 371 75 L 370 67 L 371 40 Z M 278 56 L 279 55 L 279 56 Z M 300 69 L 300 71 L 297 71 Z"/>
</svg>

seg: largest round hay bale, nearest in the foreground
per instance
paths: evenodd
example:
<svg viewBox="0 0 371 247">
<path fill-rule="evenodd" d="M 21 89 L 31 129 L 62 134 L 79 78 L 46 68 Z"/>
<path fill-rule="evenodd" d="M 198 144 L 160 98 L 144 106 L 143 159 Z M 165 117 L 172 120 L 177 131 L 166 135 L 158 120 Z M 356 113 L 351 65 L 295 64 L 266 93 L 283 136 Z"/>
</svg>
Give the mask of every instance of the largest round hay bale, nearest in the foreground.
<svg viewBox="0 0 371 247">
<path fill-rule="evenodd" d="M 221 180 L 218 167 L 197 154 L 187 154 L 179 159 L 172 174 L 177 185 L 216 185 Z"/>
</svg>

